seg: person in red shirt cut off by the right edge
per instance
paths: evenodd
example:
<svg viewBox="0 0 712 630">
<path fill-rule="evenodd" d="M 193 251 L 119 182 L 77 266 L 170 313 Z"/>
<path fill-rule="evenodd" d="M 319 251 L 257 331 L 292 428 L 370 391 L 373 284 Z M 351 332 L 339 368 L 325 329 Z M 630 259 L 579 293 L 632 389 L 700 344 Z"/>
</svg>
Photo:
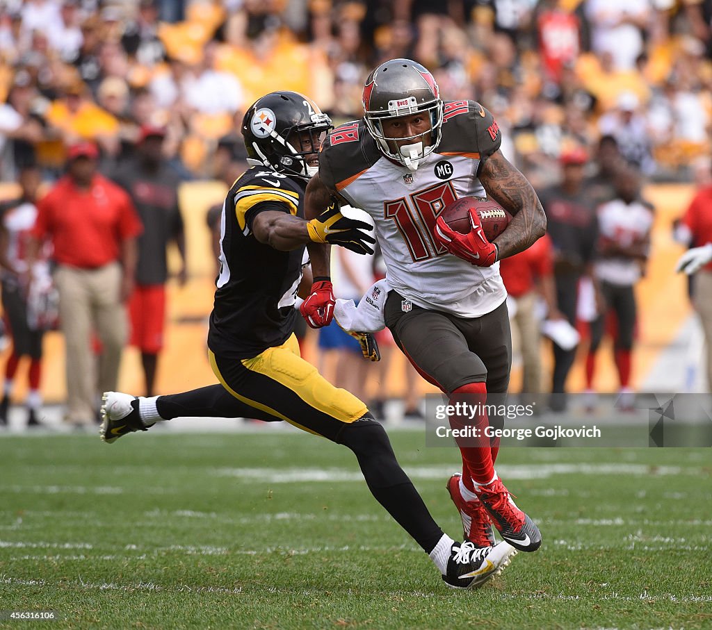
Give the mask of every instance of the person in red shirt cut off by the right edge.
<svg viewBox="0 0 712 630">
<path fill-rule="evenodd" d="M 707 346 L 707 383 L 712 392 L 712 186 L 701 186 L 693 197 L 681 225 L 679 240 L 691 245 L 677 262 L 676 270 L 696 273 L 692 304 L 700 316 Z"/>
</svg>

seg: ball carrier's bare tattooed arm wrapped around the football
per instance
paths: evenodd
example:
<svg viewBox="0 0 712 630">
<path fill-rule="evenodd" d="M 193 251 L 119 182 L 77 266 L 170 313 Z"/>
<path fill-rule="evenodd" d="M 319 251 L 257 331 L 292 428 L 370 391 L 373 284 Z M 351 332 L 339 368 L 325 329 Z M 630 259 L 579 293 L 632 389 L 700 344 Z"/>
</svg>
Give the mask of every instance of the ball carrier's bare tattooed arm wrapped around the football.
<svg viewBox="0 0 712 630">
<path fill-rule="evenodd" d="M 487 195 L 513 217 L 507 229 L 493 241 L 499 249 L 499 260 L 518 254 L 544 235 L 546 215 L 534 188 L 501 151 L 489 156 L 478 177 Z"/>
</svg>

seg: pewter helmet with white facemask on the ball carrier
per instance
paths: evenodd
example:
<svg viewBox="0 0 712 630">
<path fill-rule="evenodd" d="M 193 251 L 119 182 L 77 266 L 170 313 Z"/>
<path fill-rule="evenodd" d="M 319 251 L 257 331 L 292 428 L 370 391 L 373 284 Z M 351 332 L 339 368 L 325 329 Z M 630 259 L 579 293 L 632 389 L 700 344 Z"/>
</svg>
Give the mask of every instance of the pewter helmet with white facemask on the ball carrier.
<svg viewBox="0 0 712 630">
<path fill-rule="evenodd" d="M 443 102 L 438 85 L 424 66 L 409 59 L 392 59 L 368 75 L 363 88 L 363 109 L 366 126 L 384 156 L 399 162 L 411 171 L 438 146 L 443 122 Z M 428 112 L 431 134 L 429 146 L 419 134 L 409 138 L 391 138 L 383 132 L 383 121 Z M 396 141 L 412 140 L 400 146 Z"/>
</svg>

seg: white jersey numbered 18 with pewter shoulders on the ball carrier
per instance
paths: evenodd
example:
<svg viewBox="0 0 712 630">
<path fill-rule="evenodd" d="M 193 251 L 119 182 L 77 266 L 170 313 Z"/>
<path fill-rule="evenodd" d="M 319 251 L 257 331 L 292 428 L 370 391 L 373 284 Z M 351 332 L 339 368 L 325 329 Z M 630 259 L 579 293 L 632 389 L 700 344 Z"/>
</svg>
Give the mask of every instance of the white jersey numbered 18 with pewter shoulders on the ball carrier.
<svg viewBox="0 0 712 630">
<path fill-rule="evenodd" d="M 449 254 L 434 237 L 435 220 L 457 198 L 486 196 L 476 173 L 481 156 L 498 149 L 501 134 L 491 114 L 472 101 L 446 103 L 445 119 L 440 144 L 417 171 L 382 156 L 361 121 L 330 134 L 319 172 L 372 217 L 392 289 L 424 309 L 478 317 L 507 297 L 499 263 L 475 267 Z"/>
</svg>

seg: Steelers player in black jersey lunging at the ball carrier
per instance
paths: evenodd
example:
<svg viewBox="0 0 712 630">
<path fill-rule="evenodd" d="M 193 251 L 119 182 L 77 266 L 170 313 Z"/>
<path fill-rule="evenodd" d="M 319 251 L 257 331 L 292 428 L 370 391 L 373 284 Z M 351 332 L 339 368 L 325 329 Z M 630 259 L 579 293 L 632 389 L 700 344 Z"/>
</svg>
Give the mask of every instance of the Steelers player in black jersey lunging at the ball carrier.
<svg viewBox="0 0 712 630">
<path fill-rule="evenodd" d="M 365 253 L 375 242 L 364 231 L 369 224 L 345 218 L 337 205 L 312 220 L 303 218 L 305 186 L 330 128 L 329 117 L 295 92 L 273 92 L 248 109 L 242 132 L 252 166 L 224 202 L 208 334 L 210 363 L 221 385 L 157 397 L 107 392 L 100 434 L 115 442 L 184 416 L 286 420 L 351 449 L 373 496 L 430 555 L 446 584 L 478 587 L 508 565 L 514 548 L 501 543 L 477 549 L 444 534 L 366 405 L 299 356 L 292 333 L 295 298 L 300 287 L 311 285 L 314 293 L 320 282 L 327 284 L 305 269 L 305 244 Z M 369 339 L 361 341 L 364 353 L 375 358 Z"/>
</svg>

